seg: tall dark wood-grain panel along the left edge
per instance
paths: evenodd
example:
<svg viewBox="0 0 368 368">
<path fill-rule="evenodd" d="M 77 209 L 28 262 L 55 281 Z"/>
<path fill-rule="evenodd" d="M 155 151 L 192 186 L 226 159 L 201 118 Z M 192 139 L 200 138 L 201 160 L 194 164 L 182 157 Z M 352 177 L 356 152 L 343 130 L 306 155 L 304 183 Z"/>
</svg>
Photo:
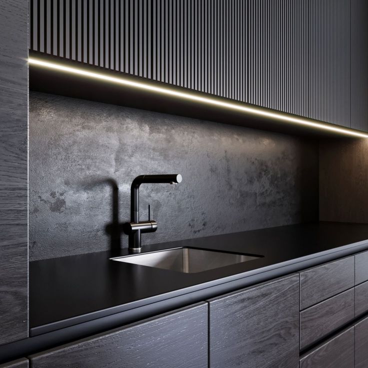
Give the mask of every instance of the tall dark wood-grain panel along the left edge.
<svg viewBox="0 0 368 368">
<path fill-rule="evenodd" d="M 28 1 L 0 1 L 0 344 L 28 335 Z"/>
</svg>

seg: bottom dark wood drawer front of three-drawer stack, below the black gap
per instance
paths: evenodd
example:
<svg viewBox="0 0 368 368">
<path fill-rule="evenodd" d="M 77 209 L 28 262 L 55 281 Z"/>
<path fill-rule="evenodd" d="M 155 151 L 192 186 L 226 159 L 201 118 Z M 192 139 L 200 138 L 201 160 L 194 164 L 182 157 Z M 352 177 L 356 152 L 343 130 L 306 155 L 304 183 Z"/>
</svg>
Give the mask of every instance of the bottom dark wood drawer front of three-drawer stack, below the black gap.
<svg viewBox="0 0 368 368">
<path fill-rule="evenodd" d="M 300 359 L 300 368 L 352 368 L 354 327 L 332 337 Z"/>
</svg>

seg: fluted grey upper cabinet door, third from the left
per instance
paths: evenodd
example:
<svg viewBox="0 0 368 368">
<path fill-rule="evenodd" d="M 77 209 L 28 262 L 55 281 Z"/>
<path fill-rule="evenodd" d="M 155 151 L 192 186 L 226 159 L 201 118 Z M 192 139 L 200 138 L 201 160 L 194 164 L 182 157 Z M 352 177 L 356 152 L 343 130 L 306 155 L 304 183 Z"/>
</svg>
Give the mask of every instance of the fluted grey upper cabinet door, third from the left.
<svg viewBox="0 0 368 368">
<path fill-rule="evenodd" d="M 246 2 L 245 101 L 308 116 L 308 1 Z"/>
</svg>

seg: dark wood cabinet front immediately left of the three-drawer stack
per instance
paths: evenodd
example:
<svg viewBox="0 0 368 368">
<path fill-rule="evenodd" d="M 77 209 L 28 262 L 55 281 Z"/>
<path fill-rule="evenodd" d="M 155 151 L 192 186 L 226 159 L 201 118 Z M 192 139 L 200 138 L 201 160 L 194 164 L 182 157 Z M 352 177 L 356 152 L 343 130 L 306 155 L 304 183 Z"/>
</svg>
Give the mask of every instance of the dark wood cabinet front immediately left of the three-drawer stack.
<svg viewBox="0 0 368 368">
<path fill-rule="evenodd" d="M 209 300 L 210 368 L 296 368 L 299 275 Z"/>
</svg>

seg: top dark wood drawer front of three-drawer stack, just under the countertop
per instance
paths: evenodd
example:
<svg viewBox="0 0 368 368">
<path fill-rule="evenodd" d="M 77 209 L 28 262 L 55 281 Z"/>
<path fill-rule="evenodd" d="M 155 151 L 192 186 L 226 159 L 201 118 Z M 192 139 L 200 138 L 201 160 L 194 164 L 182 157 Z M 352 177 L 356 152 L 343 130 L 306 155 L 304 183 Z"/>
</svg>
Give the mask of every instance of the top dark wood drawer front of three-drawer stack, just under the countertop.
<svg viewBox="0 0 368 368">
<path fill-rule="evenodd" d="M 300 272 L 300 310 L 354 286 L 354 256 Z"/>
</svg>

